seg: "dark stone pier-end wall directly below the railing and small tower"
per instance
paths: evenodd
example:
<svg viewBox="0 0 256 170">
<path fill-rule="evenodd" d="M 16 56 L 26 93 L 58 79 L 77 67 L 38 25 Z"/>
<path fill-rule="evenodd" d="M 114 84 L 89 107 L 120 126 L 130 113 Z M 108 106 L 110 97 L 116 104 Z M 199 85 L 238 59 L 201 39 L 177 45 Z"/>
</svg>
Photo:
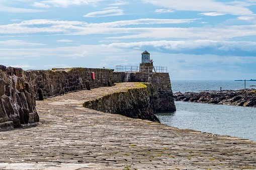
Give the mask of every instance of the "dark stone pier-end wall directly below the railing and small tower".
<svg viewBox="0 0 256 170">
<path fill-rule="evenodd" d="M 170 77 L 168 73 L 131 73 L 128 81 L 130 82 L 151 82 L 152 98 L 151 105 L 154 112 L 176 111 L 174 96 Z"/>
</svg>

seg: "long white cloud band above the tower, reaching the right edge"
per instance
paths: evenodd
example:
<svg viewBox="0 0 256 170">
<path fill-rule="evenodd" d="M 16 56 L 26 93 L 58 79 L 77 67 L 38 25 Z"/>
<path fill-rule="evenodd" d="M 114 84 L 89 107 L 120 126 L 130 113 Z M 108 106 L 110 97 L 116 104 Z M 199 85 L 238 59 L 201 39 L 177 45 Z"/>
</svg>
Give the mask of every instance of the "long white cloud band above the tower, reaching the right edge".
<svg viewBox="0 0 256 170">
<path fill-rule="evenodd" d="M 223 28 L 129 28 L 124 33 L 132 35 L 111 37 L 111 39 L 139 39 L 139 38 L 182 38 L 182 39 L 209 39 L 227 40 L 235 37 L 255 36 L 256 25 L 227 26 Z M 242 30 L 242 31 L 241 31 Z"/>
</svg>

